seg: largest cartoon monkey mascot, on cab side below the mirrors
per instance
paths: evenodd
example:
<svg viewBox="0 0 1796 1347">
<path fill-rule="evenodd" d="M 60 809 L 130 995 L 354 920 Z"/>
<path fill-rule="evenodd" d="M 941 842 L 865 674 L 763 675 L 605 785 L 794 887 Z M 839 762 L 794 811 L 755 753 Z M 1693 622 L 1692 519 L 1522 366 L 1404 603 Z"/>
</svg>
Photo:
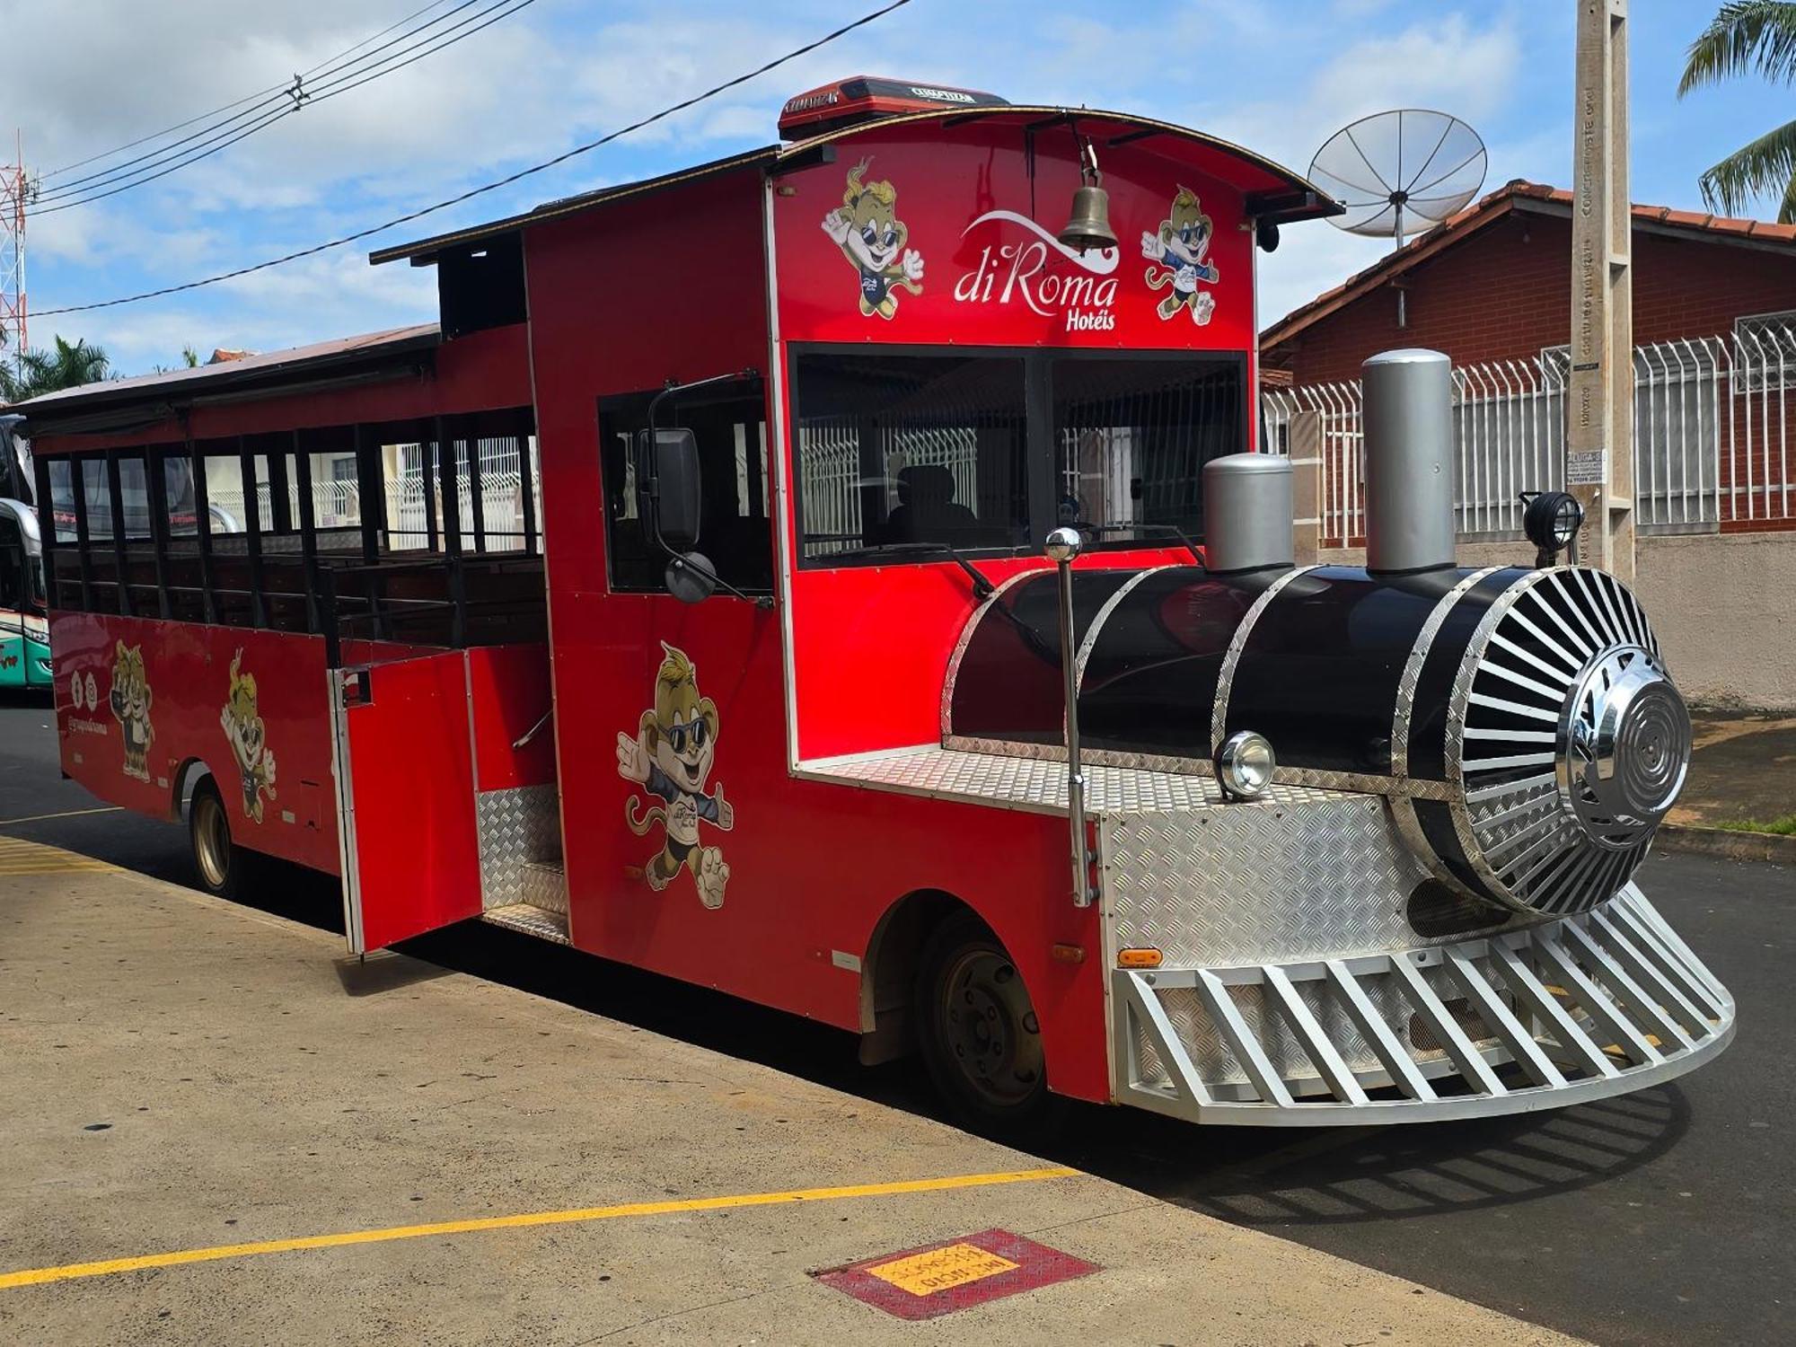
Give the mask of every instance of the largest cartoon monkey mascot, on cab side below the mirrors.
<svg viewBox="0 0 1796 1347">
<path fill-rule="evenodd" d="M 654 805 L 638 817 L 643 801 L 630 796 L 623 819 L 638 837 L 657 823 L 665 832 L 661 851 L 643 867 L 650 889 L 668 887 L 684 866 L 699 887 L 699 902 L 717 909 L 724 905 L 729 862 L 722 848 L 699 846 L 699 821 L 726 833 L 736 826 L 722 783 L 713 794 L 704 792 L 717 758 L 717 702 L 699 695 L 699 674 L 684 650 L 666 641 L 661 648 L 666 659 L 656 670 L 656 704 L 643 711 L 634 738 L 618 735 L 618 776 L 645 785 L 666 808 Z"/>
</svg>

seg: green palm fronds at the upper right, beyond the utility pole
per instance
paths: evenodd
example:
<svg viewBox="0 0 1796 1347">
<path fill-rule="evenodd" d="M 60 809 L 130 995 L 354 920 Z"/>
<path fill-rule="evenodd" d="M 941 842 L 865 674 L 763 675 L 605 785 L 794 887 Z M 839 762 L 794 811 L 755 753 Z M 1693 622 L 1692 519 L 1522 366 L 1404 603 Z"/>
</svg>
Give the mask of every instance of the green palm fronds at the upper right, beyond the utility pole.
<svg viewBox="0 0 1796 1347">
<path fill-rule="evenodd" d="M 1724 4 L 1703 36 L 1690 43 L 1677 97 L 1748 72 L 1782 84 L 1796 83 L 1796 4 Z M 1722 216 L 1746 214 L 1755 198 L 1776 192 L 1778 223 L 1796 224 L 1796 122 L 1740 145 L 1704 172 L 1697 185 L 1708 208 Z"/>
</svg>

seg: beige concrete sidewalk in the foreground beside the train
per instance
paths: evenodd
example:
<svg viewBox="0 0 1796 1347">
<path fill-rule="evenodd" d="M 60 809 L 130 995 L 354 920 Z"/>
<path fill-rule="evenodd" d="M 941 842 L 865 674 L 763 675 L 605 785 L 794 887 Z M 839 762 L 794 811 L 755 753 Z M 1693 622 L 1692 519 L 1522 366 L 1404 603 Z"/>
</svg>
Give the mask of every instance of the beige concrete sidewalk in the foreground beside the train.
<svg viewBox="0 0 1796 1347">
<path fill-rule="evenodd" d="M 14 842 L 0 869 L 9 1342 L 1568 1342 L 767 1067 L 402 955 L 359 964 L 323 932 L 65 851 Z M 929 1185 L 878 1191 L 898 1180 Z M 704 1209 L 828 1187 L 850 1191 Z M 620 1203 L 675 1211 L 569 1212 Z M 508 1219 L 532 1212 L 566 1218 Z M 485 1228 L 390 1230 L 467 1218 Z M 990 1227 L 1101 1272 L 927 1322 L 812 1275 Z M 338 1239 L 216 1248 L 304 1236 Z M 212 1252 L 156 1257 L 176 1250 Z M 133 1257 L 147 1266 L 70 1272 Z"/>
</svg>

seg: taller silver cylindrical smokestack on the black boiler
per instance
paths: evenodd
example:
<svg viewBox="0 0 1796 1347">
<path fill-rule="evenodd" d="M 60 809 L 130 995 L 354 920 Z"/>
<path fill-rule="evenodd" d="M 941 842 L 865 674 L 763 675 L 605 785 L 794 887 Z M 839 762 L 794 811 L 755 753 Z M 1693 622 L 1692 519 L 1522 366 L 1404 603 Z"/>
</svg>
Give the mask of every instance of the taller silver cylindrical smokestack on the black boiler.
<svg viewBox="0 0 1796 1347">
<path fill-rule="evenodd" d="M 1453 363 L 1385 350 L 1365 388 L 1365 568 L 1453 566 Z"/>
</svg>

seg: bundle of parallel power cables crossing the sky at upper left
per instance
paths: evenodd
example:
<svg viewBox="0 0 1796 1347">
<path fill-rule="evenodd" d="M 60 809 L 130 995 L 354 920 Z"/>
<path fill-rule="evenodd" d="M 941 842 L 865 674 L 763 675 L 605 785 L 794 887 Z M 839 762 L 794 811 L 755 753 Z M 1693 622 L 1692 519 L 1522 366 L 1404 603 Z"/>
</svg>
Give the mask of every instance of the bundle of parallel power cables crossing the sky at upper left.
<svg viewBox="0 0 1796 1347">
<path fill-rule="evenodd" d="M 199 131 L 194 131 L 192 135 L 183 136 L 181 140 L 176 140 L 171 145 L 163 145 L 162 149 L 156 149 L 149 154 L 140 154 L 135 160 L 128 160 L 126 163 L 119 163 L 113 165 L 111 169 L 104 169 L 101 172 L 88 174 L 86 178 L 77 178 L 75 181 L 65 183 L 61 189 L 56 189 L 54 192 L 38 198 L 32 214 L 48 216 L 57 210 L 70 210 L 74 207 L 81 207 L 90 201 L 99 201 L 108 196 L 117 196 L 119 192 L 129 190 L 133 187 L 142 187 L 144 183 L 154 181 L 158 178 L 165 178 L 176 169 L 185 169 L 189 163 L 198 163 L 199 160 L 210 158 L 212 154 L 217 154 L 228 149 L 230 145 L 235 145 L 239 140 L 244 140 L 255 135 L 257 131 L 273 126 L 284 117 L 291 117 L 309 102 L 323 102 L 325 99 L 332 99 L 338 93 L 348 93 L 350 90 L 359 88 L 361 84 L 366 84 L 372 79 L 379 79 L 381 75 L 390 75 L 411 65 L 413 61 L 440 52 L 447 47 L 454 47 L 458 41 L 472 38 L 481 29 L 497 23 L 501 18 L 515 14 L 519 9 L 535 4 L 535 0 L 492 0 L 487 5 L 487 9 L 469 14 L 460 23 L 454 23 L 449 29 L 444 29 L 442 32 L 433 32 L 429 38 L 424 38 L 422 41 L 411 43 L 409 47 L 401 47 L 401 50 L 393 52 L 392 56 L 381 57 L 374 66 L 365 66 L 361 70 L 350 68 L 363 65 L 386 47 L 393 47 L 404 38 L 413 38 L 424 29 L 442 23 L 444 20 L 451 18 L 453 14 L 474 4 L 481 4 L 481 0 L 463 0 L 447 14 L 440 14 L 429 23 L 424 23 L 418 29 L 402 34 L 402 38 L 395 38 L 393 41 L 374 48 L 374 52 L 359 56 L 354 61 L 325 70 L 325 83 L 321 84 L 307 88 L 304 83 L 305 77 L 295 75 L 295 83 L 284 84 L 280 93 L 273 95 L 271 99 L 264 99 L 262 102 L 248 108 L 246 111 L 237 113 L 235 117 L 226 119 L 224 122 L 201 128 Z M 476 20 L 481 18 L 485 18 L 485 22 L 476 23 Z M 471 23 L 474 23 L 474 27 L 469 27 Z M 268 104 L 277 104 L 277 106 L 268 108 Z M 264 111 L 264 108 L 268 110 Z M 244 117 L 253 117 L 253 120 L 248 126 L 232 126 L 233 122 L 241 122 Z M 199 136 L 208 136 L 208 138 L 199 140 L 199 144 L 189 145 L 189 149 L 180 149 L 180 153 L 176 153 L 180 145 L 187 145 L 189 142 Z M 83 187 L 81 183 L 86 185 Z"/>
</svg>

